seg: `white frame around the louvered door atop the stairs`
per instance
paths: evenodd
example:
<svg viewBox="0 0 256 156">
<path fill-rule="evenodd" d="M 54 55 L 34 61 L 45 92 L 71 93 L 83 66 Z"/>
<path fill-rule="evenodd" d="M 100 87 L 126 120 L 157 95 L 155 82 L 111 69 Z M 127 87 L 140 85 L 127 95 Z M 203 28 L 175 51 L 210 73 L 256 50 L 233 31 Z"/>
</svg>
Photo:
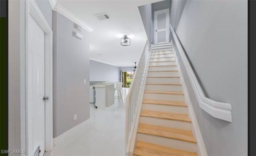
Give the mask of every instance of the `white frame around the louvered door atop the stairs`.
<svg viewBox="0 0 256 156">
<path fill-rule="evenodd" d="M 157 27 L 157 20 L 156 20 L 156 14 L 159 13 L 159 12 L 168 12 L 168 16 L 166 16 L 166 42 L 157 42 L 157 33 L 156 33 L 156 27 Z M 168 43 L 170 42 L 169 41 L 169 34 L 170 34 L 170 31 L 169 31 L 169 24 L 170 24 L 170 10 L 169 8 L 168 9 L 163 9 L 163 10 L 158 10 L 158 11 L 155 11 L 154 12 L 154 44 L 159 44 L 159 43 Z"/>
</svg>

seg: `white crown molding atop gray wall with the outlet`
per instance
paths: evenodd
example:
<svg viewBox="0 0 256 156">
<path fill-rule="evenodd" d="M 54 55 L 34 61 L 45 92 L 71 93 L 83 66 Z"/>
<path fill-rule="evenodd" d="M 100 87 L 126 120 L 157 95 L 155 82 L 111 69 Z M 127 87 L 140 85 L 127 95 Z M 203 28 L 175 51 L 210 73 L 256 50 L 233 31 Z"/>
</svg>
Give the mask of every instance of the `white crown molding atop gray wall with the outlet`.
<svg viewBox="0 0 256 156">
<path fill-rule="evenodd" d="M 76 17 L 74 14 L 72 14 L 70 11 L 68 11 L 66 8 L 61 6 L 60 4 L 56 4 L 55 7 L 52 9 L 56 12 L 59 12 L 66 18 L 70 19 L 72 22 L 80 25 L 82 28 L 87 30 L 88 32 L 92 32 L 94 29 L 90 27 L 88 24 L 86 24 L 84 21 L 82 21 L 80 18 Z"/>
</svg>

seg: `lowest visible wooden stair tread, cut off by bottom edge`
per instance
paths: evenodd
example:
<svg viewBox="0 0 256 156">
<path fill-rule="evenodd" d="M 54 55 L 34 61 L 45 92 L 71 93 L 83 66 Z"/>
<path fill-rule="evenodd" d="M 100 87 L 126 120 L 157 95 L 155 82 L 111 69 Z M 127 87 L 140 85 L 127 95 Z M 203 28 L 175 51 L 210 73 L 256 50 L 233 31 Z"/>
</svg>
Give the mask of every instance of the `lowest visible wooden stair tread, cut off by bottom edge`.
<svg viewBox="0 0 256 156">
<path fill-rule="evenodd" d="M 142 141 L 137 142 L 134 154 L 137 156 L 197 156 L 196 153 L 168 148 Z"/>
</svg>

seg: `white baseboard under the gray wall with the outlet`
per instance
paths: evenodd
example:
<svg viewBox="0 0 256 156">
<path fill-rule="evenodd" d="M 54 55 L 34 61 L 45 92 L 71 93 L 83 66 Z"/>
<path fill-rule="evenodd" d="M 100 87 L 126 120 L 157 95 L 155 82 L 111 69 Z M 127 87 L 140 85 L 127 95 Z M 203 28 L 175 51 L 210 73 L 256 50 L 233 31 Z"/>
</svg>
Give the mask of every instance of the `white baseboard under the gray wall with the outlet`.
<svg viewBox="0 0 256 156">
<path fill-rule="evenodd" d="M 69 136 L 72 136 L 74 134 L 76 134 L 77 132 L 79 132 L 81 130 L 82 127 L 86 126 L 87 124 L 90 123 L 90 118 L 85 120 L 84 122 L 74 126 L 73 128 L 71 128 L 70 130 L 60 134 L 59 136 L 57 136 L 56 138 L 53 138 L 53 144 L 54 145 L 58 145 L 60 142 L 63 142 L 66 138 L 68 138 Z"/>
</svg>

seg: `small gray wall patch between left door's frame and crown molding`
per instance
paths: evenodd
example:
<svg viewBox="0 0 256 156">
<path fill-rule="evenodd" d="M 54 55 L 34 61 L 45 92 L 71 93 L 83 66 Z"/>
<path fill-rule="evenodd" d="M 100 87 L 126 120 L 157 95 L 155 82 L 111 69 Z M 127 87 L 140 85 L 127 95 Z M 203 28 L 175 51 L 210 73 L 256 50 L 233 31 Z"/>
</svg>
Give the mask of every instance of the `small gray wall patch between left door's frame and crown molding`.
<svg viewBox="0 0 256 156">
<path fill-rule="evenodd" d="M 49 0 L 35 0 L 36 4 L 40 8 L 41 12 L 44 14 L 44 18 L 48 22 L 49 26 L 52 28 L 52 7 Z"/>
</svg>

